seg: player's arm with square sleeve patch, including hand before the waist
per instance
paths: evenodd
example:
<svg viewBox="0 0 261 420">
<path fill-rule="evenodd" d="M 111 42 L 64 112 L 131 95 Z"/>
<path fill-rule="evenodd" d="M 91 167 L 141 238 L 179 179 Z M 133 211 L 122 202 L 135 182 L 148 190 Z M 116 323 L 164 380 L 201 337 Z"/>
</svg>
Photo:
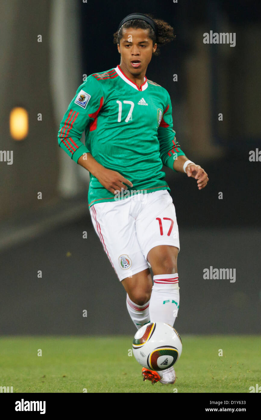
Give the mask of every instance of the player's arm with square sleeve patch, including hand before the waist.
<svg viewBox="0 0 261 420">
<path fill-rule="evenodd" d="M 60 123 L 58 144 L 79 165 L 87 169 L 106 189 L 114 191 L 126 189 L 126 183 L 133 186 L 131 181 L 124 178 L 119 172 L 104 168 L 90 153 L 90 145 L 81 142 L 81 136 L 89 123 L 94 121 L 100 112 L 104 96 L 100 84 L 93 76 L 77 89 L 67 111 Z"/>
</svg>

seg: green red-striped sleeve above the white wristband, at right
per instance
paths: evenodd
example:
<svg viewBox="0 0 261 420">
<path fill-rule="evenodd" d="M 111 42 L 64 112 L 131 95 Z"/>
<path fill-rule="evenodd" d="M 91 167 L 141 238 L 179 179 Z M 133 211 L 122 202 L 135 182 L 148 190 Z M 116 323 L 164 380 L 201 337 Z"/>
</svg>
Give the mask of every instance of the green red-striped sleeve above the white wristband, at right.
<svg viewBox="0 0 261 420">
<path fill-rule="evenodd" d="M 167 103 L 163 112 L 160 125 L 158 127 L 158 140 L 160 142 L 160 159 L 163 165 L 168 166 L 174 172 L 173 168 L 173 155 L 176 153 L 176 157 L 184 155 L 185 153 L 181 150 L 175 136 L 176 132 L 173 130 L 172 121 L 172 105 L 170 95 L 167 95 Z"/>
</svg>

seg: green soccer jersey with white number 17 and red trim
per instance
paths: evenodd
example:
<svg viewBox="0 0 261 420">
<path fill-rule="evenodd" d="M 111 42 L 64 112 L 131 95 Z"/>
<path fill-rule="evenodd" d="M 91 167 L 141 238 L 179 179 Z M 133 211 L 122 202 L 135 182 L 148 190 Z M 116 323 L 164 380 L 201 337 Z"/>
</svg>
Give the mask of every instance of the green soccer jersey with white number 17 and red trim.
<svg viewBox="0 0 261 420">
<path fill-rule="evenodd" d="M 117 66 L 80 85 L 60 124 L 58 143 L 75 162 L 90 152 L 133 184 L 115 197 L 90 173 L 90 208 L 139 192 L 170 191 L 162 165 L 174 171 L 174 159 L 185 155 L 175 134 L 167 90 L 146 76 L 139 88 Z"/>
</svg>

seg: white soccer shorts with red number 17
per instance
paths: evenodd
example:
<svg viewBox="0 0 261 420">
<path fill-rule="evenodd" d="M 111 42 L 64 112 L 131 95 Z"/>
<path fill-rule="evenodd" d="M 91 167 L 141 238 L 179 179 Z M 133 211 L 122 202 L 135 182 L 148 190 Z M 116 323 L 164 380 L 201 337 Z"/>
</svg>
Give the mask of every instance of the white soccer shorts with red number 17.
<svg viewBox="0 0 261 420">
<path fill-rule="evenodd" d="M 120 281 L 149 268 L 148 252 L 157 245 L 180 249 L 176 211 L 167 190 L 96 203 L 90 215 Z"/>
</svg>

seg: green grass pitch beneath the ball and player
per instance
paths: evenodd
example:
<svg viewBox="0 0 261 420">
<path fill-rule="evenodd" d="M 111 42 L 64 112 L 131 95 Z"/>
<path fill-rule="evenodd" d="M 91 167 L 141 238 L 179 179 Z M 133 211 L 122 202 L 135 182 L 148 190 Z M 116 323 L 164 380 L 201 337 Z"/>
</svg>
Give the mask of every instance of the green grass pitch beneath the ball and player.
<svg viewBox="0 0 261 420">
<path fill-rule="evenodd" d="M 261 385 L 261 337 L 183 336 L 176 383 L 143 382 L 131 336 L 0 338 L 0 386 L 13 392 L 248 393 Z M 37 356 L 41 349 L 42 356 Z M 222 349 L 223 356 L 219 356 Z"/>
</svg>

